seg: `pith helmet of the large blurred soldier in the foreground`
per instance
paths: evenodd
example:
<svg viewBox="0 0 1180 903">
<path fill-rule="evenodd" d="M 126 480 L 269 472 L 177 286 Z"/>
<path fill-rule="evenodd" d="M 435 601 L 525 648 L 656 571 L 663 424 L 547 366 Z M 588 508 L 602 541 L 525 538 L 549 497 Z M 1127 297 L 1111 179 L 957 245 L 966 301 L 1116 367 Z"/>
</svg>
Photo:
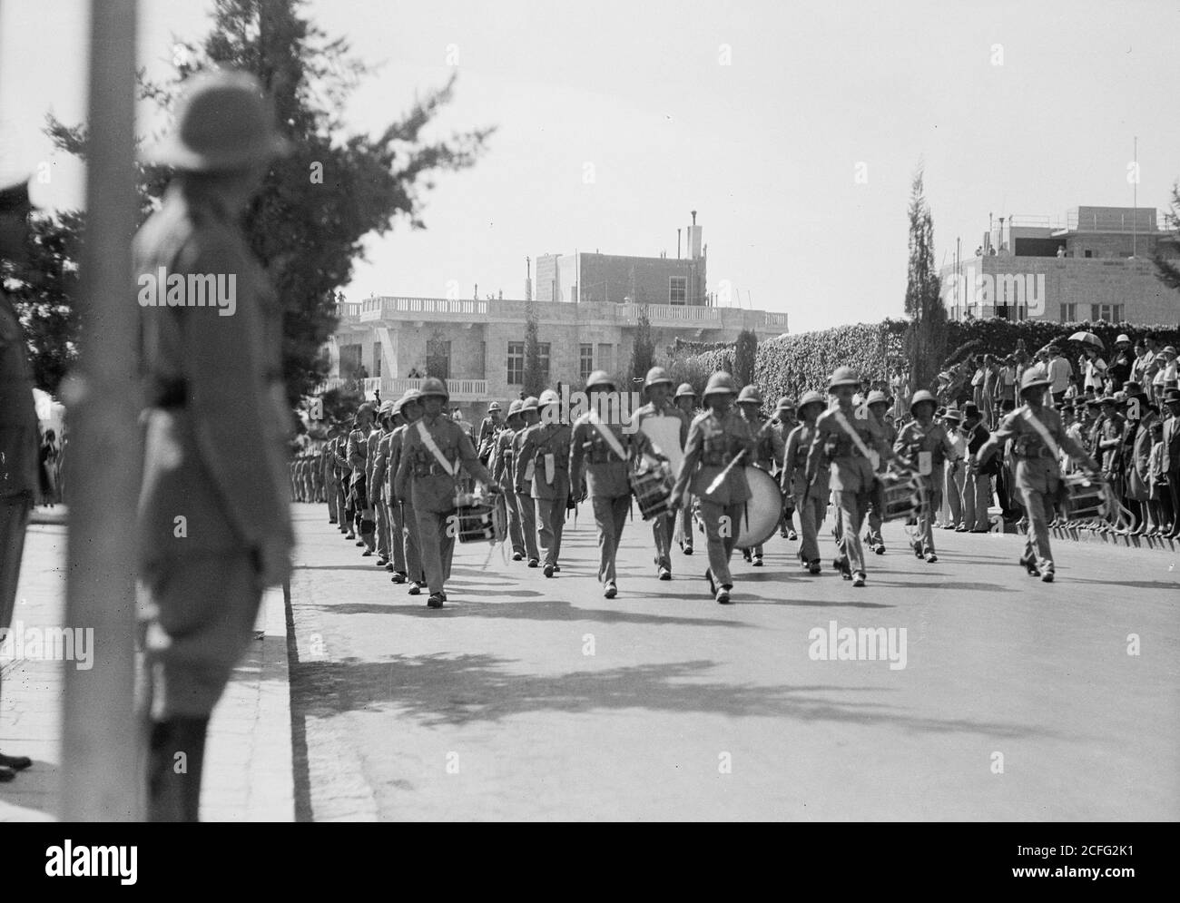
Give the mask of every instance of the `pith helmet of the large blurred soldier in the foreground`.
<svg viewBox="0 0 1180 903">
<path fill-rule="evenodd" d="M 275 112 L 249 72 L 212 70 L 189 79 L 176 124 L 149 162 L 191 172 L 232 172 L 286 155 Z"/>
</svg>

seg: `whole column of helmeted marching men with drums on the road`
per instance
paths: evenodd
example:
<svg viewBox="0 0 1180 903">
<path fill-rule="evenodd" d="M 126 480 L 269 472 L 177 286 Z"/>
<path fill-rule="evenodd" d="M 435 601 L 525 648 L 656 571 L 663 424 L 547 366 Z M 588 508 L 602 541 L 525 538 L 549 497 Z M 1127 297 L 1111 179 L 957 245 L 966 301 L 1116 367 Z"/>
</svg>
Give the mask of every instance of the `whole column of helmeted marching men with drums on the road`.
<svg viewBox="0 0 1180 903">
<path fill-rule="evenodd" d="M 558 393 L 545 390 L 512 401 L 506 413 L 492 403 L 473 434 L 447 413 L 445 382 L 428 378 L 395 401 L 362 404 L 350 424 L 328 430 L 322 449 L 299 454 L 291 465 L 293 497 L 327 502 L 329 522 L 361 555 L 375 555 L 376 565 L 409 595 L 425 589 L 431 608 L 447 600 L 457 493 L 478 486 L 484 499 L 503 503 L 511 560 L 542 569 L 546 578 L 562 570 L 566 517 L 589 500 L 598 582 L 603 595 L 614 598 L 617 552 L 634 516 L 635 478 L 648 473 L 647 482 L 662 485 L 666 496 L 650 518 L 655 576 L 671 580 L 673 549 L 693 555 L 694 534 L 701 534 L 708 557 L 704 581 L 710 596 L 726 604 L 739 525 L 748 519 L 749 506 L 765 504 L 758 498 L 763 483 L 752 490 L 747 466 L 766 475 L 759 477 L 766 486 L 776 488 L 779 509 L 767 538 L 775 528 L 785 539 L 798 538 L 801 568 L 821 574 L 820 529 L 831 505 L 832 565 L 853 587 L 864 587 L 866 550 L 886 551 L 881 523 L 897 517 L 886 486 L 896 484 L 898 473 L 919 498 L 910 512 L 916 526 L 910 551 L 935 563 L 932 528 L 944 493 L 957 503 L 965 486 L 968 518 L 986 524 L 986 475 L 995 472 L 991 459 L 1002 452 L 1014 463 L 1009 491 L 1020 495 L 1029 517 L 1021 564 L 1051 581 L 1048 525 L 1061 500 L 1062 452 L 1090 477 L 1097 478 L 1099 465 L 1044 403 L 1047 377 L 1025 372 L 1023 405 L 990 433 L 974 405 L 966 405 L 961 428 L 963 415 L 939 410 L 925 391 L 910 399 L 911 419 L 899 431 L 887 413 L 893 399 L 881 391 L 859 391 L 861 382 L 856 371 L 840 367 L 828 380 L 827 399 L 819 392 L 807 392 L 798 403 L 782 398 L 768 418 L 761 413 L 759 390 L 739 391 L 728 373 L 710 377 L 697 407 L 688 384 L 675 387 L 667 371 L 654 367 L 644 380 L 645 404 L 627 418 L 610 407 L 617 386 L 599 371 L 586 382 L 586 412 L 572 423 L 560 411 Z M 611 411 L 621 415 L 604 417 Z M 743 557 L 762 567 L 763 544 L 746 543 Z"/>
</svg>

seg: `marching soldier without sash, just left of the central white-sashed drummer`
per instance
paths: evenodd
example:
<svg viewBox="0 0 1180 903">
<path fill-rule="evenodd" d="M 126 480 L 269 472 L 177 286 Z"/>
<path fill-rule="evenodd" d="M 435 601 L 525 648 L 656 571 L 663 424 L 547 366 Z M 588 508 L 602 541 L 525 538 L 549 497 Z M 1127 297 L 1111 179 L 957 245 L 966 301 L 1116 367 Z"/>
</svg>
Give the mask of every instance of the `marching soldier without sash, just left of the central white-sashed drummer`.
<svg viewBox="0 0 1180 903">
<path fill-rule="evenodd" d="M 570 498 L 570 425 L 560 423 L 560 398 L 546 388 L 538 404 L 540 423 L 524 431 L 520 451 L 512 470 L 518 497 L 532 496 L 540 528 L 540 545 L 545 550 L 546 577 L 560 570 L 557 558 L 562 552 L 562 531 L 565 528 L 565 504 Z M 532 462 L 532 482 L 525 479 L 526 465 Z"/>
</svg>

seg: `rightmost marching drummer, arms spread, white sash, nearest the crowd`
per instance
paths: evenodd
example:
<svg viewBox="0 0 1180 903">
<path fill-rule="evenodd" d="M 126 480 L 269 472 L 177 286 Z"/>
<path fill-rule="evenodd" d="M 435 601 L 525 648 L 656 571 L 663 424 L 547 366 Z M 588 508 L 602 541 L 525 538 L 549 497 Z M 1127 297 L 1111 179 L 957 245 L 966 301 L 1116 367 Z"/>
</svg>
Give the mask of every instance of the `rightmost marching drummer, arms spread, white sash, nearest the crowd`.
<svg viewBox="0 0 1180 903">
<path fill-rule="evenodd" d="M 1051 583 L 1055 567 L 1049 548 L 1049 522 L 1054 518 L 1061 483 L 1061 451 L 1080 460 L 1096 478 L 1099 465 L 1081 445 L 1066 434 L 1061 417 L 1044 404 L 1051 380 L 1040 367 L 1030 367 L 1021 377 L 1021 400 L 1024 403 L 1005 417 L 991 438 L 979 449 L 971 467 L 979 470 L 1004 441 L 1012 439 L 1016 458 L 1016 488 L 1024 497 L 1029 518 L 1028 541 L 1021 564 L 1032 576 Z"/>
</svg>

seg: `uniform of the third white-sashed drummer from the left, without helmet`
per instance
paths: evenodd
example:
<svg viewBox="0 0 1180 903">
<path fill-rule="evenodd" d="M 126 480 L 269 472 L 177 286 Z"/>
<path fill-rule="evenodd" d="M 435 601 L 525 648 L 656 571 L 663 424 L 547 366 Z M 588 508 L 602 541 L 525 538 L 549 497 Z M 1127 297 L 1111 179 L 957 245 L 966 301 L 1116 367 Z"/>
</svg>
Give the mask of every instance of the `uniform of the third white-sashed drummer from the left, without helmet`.
<svg viewBox="0 0 1180 903">
<path fill-rule="evenodd" d="M 867 408 L 860 408 L 864 415 L 858 417 L 858 410 L 852 407 L 833 407 L 819 415 L 815 421 L 815 434 L 807 453 L 808 484 L 814 486 L 821 467 L 828 470 L 832 488 L 832 502 L 839 511 L 837 549 L 843 567 L 852 572 L 864 572 L 865 551 L 860 543 L 860 528 L 865 519 L 868 503 L 872 500 L 877 478 L 873 463 L 864 456 L 848 432 L 840 424 L 844 421 L 860 438 L 868 451 L 876 451 L 881 459 L 891 453 L 885 443 L 885 428 Z"/>
</svg>

